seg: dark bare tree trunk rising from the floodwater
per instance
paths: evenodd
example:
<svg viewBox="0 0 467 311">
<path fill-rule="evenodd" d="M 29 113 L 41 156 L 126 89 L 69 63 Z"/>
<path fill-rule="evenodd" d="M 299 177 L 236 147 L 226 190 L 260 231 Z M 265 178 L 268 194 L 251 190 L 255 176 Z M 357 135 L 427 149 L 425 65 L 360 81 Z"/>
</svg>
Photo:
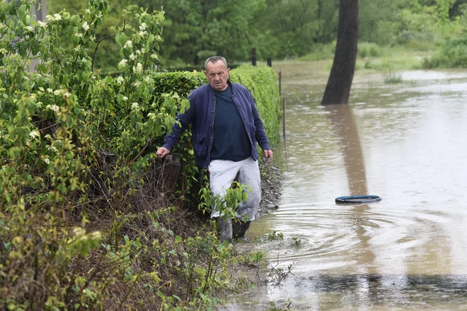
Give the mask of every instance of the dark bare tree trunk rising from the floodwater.
<svg viewBox="0 0 467 311">
<path fill-rule="evenodd" d="M 358 0 L 340 0 L 338 42 L 321 105 L 347 104 L 354 78 L 358 43 Z"/>
</svg>

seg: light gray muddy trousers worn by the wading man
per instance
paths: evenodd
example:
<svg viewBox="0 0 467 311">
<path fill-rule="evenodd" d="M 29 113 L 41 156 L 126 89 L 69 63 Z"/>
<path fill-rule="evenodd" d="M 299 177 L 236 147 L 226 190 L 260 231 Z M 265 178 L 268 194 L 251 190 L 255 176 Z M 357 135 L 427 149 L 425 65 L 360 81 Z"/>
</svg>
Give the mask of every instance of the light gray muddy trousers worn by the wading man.
<svg viewBox="0 0 467 311">
<path fill-rule="evenodd" d="M 233 180 L 238 175 L 238 183 L 248 184 L 252 191 L 248 189 L 248 199 L 245 203 L 238 204 L 236 218 L 242 219 L 246 216 L 249 221 L 255 220 L 256 211 L 261 200 L 261 179 L 258 161 L 252 157 L 238 162 L 231 160 L 212 160 L 209 164 L 209 184 L 214 196 L 225 196 L 226 189 L 231 187 Z M 211 218 L 217 218 L 220 212 L 212 209 Z"/>
</svg>

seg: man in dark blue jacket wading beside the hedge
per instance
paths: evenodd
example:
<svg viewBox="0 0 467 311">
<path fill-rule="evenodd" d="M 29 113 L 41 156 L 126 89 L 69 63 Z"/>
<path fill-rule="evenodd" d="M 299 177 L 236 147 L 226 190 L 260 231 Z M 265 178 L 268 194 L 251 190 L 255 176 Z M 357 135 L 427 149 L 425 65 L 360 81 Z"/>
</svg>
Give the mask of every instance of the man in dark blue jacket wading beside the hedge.
<svg viewBox="0 0 467 311">
<path fill-rule="evenodd" d="M 213 209 L 211 218 L 218 223 L 219 239 L 230 242 L 232 237 L 243 239 L 261 200 L 260 170 L 256 142 L 263 149 L 268 162 L 272 151 L 258 115 L 255 101 L 248 88 L 229 81 L 230 69 L 224 57 L 209 57 L 204 75 L 209 83 L 190 93 L 190 108 L 177 116 L 181 127 L 174 124 L 156 155 L 163 158 L 171 152 L 188 124 L 192 124 L 192 143 L 195 162 L 209 167 L 209 184 L 214 196 L 224 196 L 233 180 L 248 184 L 252 191 L 245 203 L 238 205 L 236 218 L 224 220 Z M 233 232 L 232 232 L 233 225 Z"/>
</svg>

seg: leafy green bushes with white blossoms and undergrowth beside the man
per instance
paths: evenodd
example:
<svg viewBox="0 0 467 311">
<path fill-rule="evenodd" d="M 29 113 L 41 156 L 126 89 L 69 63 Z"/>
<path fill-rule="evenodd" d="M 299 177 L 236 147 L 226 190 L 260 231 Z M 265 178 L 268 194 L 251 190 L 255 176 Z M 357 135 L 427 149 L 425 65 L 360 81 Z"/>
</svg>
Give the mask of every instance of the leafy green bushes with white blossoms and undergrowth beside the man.
<svg viewBox="0 0 467 311">
<path fill-rule="evenodd" d="M 164 166 L 150 147 L 188 107 L 185 96 L 204 83 L 203 75 L 152 71 L 160 12 L 129 7 L 122 12 L 127 23 L 104 39 L 95 36 L 107 0 L 88 0 L 79 14 L 62 11 L 38 22 L 30 15 L 34 2 L 0 2 L 1 309 L 217 304 L 213 293 L 234 286 L 228 268 L 260 255 L 236 256 L 175 207 L 197 182 L 189 133 L 179 146 L 178 196 L 158 192 Z M 93 68 L 101 40 L 120 48 L 114 76 Z M 262 92 L 275 92 L 274 75 L 251 70 L 245 81 L 272 83 L 251 85 L 265 124 L 272 123 L 277 116 L 267 115 L 273 105 Z"/>
</svg>

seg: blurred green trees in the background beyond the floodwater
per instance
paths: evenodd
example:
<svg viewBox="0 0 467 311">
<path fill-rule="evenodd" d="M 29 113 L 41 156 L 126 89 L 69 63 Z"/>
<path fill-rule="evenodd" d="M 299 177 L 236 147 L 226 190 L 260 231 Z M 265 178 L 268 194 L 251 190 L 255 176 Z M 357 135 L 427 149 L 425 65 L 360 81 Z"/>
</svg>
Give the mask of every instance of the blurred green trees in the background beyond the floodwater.
<svg viewBox="0 0 467 311">
<path fill-rule="evenodd" d="M 136 25 L 125 17 L 128 4 L 148 7 L 149 11 L 163 8 L 166 35 L 159 42 L 158 57 L 166 67 L 200 65 L 214 54 L 241 63 L 249 61 L 253 47 L 259 60 L 333 57 L 338 1 L 109 1 L 108 18 L 97 30 L 96 41 L 115 33 L 117 25 Z M 62 9 L 80 12 L 84 2 L 48 0 L 47 10 L 51 15 Z M 466 0 L 361 0 L 359 40 L 380 47 L 432 49 L 444 37 L 462 35 L 467 26 L 466 9 Z M 65 34 L 57 35 L 62 36 L 62 47 L 68 51 L 74 47 L 64 40 Z M 119 50 L 113 40 L 103 40 L 94 57 L 95 69 L 117 71 Z"/>
</svg>

